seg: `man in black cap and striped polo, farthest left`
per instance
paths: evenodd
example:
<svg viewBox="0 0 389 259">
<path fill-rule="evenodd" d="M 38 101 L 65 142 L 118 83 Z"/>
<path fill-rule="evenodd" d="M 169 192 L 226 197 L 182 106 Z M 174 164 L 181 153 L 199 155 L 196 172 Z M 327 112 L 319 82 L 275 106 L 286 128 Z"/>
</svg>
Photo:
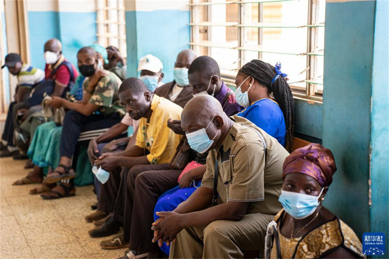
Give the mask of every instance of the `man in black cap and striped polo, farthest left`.
<svg viewBox="0 0 389 259">
<path fill-rule="evenodd" d="M 7 119 L 5 120 L 4 131 L 1 136 L 0 149 L 1 157 L 18 155 L 18 148 L 13 143 L 14 138 L 14 117 L 12 110 L 15 104 L 22 103 L 31 90 L 37 84 L 41 83 L 45 78 L 45 72 L 41 69 L 36 69 L 22 62 L 20 55 L 17 53 L 9 53 L 5 56 L 5 63 L 1 67 L 8 68 L 8 71 L 18 78 L 18 83 L 15 90 L 15 101 L 9 104 Z"/>
</svg>

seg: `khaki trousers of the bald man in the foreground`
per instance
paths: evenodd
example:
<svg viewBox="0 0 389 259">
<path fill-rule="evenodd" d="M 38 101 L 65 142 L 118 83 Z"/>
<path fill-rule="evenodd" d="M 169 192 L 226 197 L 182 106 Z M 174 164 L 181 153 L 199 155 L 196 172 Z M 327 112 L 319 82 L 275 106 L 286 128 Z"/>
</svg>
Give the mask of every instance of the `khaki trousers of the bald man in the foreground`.
<svg viewBox="0 0 389 259">
<path fill-rule="evenodd" d="M 243 258 L 242 250 L 265 247 L 267 224 L 274 215 L 246 214 L 241 221 L 214 221 L 183 229 L 170 247 L 169 258 Z"/>
</svg>

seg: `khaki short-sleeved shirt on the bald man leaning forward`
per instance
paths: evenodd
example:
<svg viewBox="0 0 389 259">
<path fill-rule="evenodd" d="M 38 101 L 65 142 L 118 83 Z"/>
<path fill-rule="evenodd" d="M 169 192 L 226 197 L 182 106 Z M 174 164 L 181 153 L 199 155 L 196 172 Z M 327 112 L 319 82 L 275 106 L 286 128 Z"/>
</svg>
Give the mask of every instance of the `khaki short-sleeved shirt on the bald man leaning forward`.
<svg viewBox="0 0 389 259">
<path fill-rule="evenodd" d="M 264 130 L 239 116 L 218 150 L 207 157 L 207 171 L 201 186 L 213 189 L 215 159 L 219 163 L 218 203 L 228 201 L 250 202 L 247 213 L 277 214 L 282 209 L 281 194 L 283 161 L 289 153 Z M 258 135 L 265 139 L 264 144 Z"/>
</svg>

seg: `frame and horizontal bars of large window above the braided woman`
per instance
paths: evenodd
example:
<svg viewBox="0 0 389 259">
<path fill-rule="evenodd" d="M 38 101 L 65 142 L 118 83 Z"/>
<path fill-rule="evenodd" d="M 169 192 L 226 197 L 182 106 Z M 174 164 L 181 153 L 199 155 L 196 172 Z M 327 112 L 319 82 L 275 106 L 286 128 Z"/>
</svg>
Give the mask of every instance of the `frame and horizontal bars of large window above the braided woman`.
<svg viewBox="0 0 389 259">
<path fill-rule="evenodd" d="M 238 62 L 239 67 L 242 67 L 247 61 L 245 59 L 246 51 L 254 51 L 258 52 L 258 58 L 262 59 L 262 53 L 278 53 L 278 54 L 290 54 L 290 55 L 306 55 L 307 56 L 307 68 L 306 72 L 306 80 L 302 80 L 299 82 L 290 83 L 290 85 L 295 83 L 304 83 L 306 87 L 303 86 L 291 86 L 293 89 L 304 89 L 305 88 L 305 97 L 309 97 L 309 99 L 319 99 L 320 97 L 316 97 L 315 95 L 318 93 L 317 85 L 322 85 L 323 78 L 316 78 L 318 75 L 315 71 L 318 64 L 318 56 L 324 55 L 324 50 L 318 50 L 318 27 L 324 27 L 324 23 L 318 23 L 318 0 L 309 0 L 308 5 L 308 21 L 307 24 L 281 24 L 281 23 L 265 23 L 263 22 L 263 3 L 266 2 L 283 2 L 283 1 L 291 1 L 291 0 L 259 0 L 259 1 L 207 1 L 207 2 L 199 2 L 199 0 L 192 0 L 189 4 L 191 8 L 191 42 L 188 43 L 192 46 L 192 48 L 197 52 L 199 47 L 205 47 L 208 49 L 208 54 L 210 48 L 224 48 L 224 49 L 237 49 L 238 50 Z M 258 3 L 259 8 L 259 17 L 258 23 L 245 23 L 245 6 L 248 3 Z M 198 13 L 199 7 L 207 6 L 207 11 L 210 13 L 210 8 L 212 5 L 216 4 L 238 4 L 238 23 L 236 22 L 211 22 L 209 21 L 210 17 L 208 17 L 208 21 L 198 21 Z M 200 40 L 200 26 L 203 27 L 212 27 L 212 26 L 222 26 L 222 27 L 237 27 L 238 28 L 238 46 L 233 46 L 230 43 L 215 43 L 211 40 Z M 247 39 L 247 30 L 245 28 L 252 27 L 258 28 L 258 46 L 245 46 L 245 40 Z M 306 52 L 297 52 L 297 51 L 273 51 L 269 48 L 262 46 L 262 28 L 307 28 L 308 37 L 307 37 L 307 50 Z M 208 29 L 207 35 L 208 39 L 210 38 L 211 28 Z M 321 92 L 321 91 L 320 91 Z M 301 92 L 300 92 L 301 95 Z"/>
</svg>

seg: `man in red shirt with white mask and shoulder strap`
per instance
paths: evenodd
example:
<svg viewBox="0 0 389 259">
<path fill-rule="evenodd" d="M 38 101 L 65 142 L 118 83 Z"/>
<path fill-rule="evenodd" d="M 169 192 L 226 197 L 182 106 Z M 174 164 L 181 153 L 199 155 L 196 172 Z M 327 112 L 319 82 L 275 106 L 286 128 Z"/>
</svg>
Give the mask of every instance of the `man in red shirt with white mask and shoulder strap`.
<svg viewBox="0 0 389 259">
<path fill-rule="evenodd" d="M 53 38 L 45 43 L 44 57 L 46 60 L 44 84 L 50 86 L 51 96 L 66 97 L 66 93 L 75 83 L 78 72 L 74 65 L 65 59 L 62 54 L 62 44 L 58 39 Z M 18 129 L 27 139 L 32 140 L 36 128 L 45 122 L 40 105 L 42 99 L 36 101 L 35 96 L 30 96 L 25 102 L 17 104 L 13 108 L 14 118 L 17 118 L 17 114 L 23 114 L 20 121 L 14 120 L 15 129 Z M 27 156 L 22 154 L 18 158 L 27 158 Z"/>
</svg>

